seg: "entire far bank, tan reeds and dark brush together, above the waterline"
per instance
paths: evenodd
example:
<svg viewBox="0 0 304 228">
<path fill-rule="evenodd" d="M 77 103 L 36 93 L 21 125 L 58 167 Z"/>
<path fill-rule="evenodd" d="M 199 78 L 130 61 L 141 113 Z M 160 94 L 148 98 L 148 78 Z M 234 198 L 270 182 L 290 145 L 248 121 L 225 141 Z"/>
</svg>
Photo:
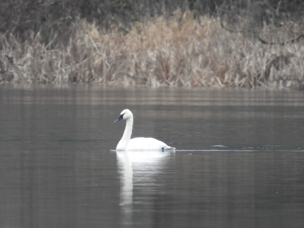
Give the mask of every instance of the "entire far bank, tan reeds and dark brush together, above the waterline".
<svg viewBox="0 0 304 228">
<path fill-rule="evenodd" d="M 302 0 L 0 2 L 0 82 L 303 89 L 303 46 Z"/>
</svg>

